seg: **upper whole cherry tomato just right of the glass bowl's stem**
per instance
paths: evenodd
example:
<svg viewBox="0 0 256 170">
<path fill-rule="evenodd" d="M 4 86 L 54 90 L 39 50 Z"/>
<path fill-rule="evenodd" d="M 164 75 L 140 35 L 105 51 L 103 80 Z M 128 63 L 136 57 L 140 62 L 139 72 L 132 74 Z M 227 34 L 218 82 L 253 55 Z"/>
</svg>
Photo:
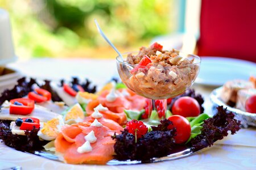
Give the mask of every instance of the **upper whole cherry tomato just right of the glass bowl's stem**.
<svg viewBox="0 0 256 170">
<path fill-rule="evenodd" d="M 200 105 L 192 97 L 180 97 L 172 105 L 172 114 L 178 114 L 184 117 L 195 117 L 200 114 Z"/>
</svg>

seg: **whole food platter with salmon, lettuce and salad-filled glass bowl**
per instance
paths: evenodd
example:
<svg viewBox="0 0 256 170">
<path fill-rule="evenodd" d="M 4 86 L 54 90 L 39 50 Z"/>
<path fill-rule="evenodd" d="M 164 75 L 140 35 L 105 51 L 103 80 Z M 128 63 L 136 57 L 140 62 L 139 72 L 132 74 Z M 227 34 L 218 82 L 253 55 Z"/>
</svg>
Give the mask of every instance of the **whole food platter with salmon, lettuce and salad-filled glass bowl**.
<svg viewBox="0 0 256 170">
<path fill-rule="evenodd" d="M 19 79 L 0 97 L 0 139 L 68 164 L 129 165 L 184 158 L 240 130 L 222 105 L 204 113 L 203 97 L 190 89 L 200 58 L 162 48 L 155 42 L 117 57 L 122 82 L 100 90 L 88 79 Z"/>
</svg>

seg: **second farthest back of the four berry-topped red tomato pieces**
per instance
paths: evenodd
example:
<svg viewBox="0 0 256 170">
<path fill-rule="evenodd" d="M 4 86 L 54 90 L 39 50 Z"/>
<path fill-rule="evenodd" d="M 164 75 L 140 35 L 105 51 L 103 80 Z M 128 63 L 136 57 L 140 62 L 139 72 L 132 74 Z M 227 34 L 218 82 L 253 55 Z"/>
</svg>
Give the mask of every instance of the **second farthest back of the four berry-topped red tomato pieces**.
<svg viewBox="0 0 256 170">
<path fill-rule="evenodd" d="M 29 92 L 28 93 L 28 98 L 35 100 L 38 103 L 51 100 L 51 93 L 48 92 L 47 90 L 44 90 L 43 88 L 36 88 L 35 92 Z"/>
</svg>

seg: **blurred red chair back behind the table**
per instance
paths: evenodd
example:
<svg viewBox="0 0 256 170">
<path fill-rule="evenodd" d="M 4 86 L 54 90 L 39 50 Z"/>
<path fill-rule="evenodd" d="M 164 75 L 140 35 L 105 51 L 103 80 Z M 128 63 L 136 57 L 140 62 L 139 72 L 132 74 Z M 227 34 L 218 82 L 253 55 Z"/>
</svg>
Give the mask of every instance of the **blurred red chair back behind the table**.
<svg viewBox="0 0 256 170">
<path fill-rule="evenodd" d="M 256 1 L 201 0 L 197 50 L 256 62 Z"/>
</svg>

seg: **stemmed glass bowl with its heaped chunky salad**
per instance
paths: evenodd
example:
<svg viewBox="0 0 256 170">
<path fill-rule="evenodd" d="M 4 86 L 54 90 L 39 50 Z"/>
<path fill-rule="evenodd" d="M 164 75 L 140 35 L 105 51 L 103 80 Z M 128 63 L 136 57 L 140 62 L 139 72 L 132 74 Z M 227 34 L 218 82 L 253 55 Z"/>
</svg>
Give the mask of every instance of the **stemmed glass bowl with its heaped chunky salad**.
<svg viewBox="0 0 256 170">
<path fill-rule="evenodd" d="M 152 45 L 122 56 L 123 61 L 119 56 L 116 58 L 119 76 L 130 90 L 151 99 L 148 101 L 149 108 L 152 108 L 149 113 L 159 111 L 156 108 L 158 103 L 162 103 L 160 108 L 166 113 L 167 99 L 181 95 L 190 88 L 200 70 L 200 57 L 174 49 L 163 51 Z M 165 114 L 158 116 L 164 118 Z"/>
</svg>

